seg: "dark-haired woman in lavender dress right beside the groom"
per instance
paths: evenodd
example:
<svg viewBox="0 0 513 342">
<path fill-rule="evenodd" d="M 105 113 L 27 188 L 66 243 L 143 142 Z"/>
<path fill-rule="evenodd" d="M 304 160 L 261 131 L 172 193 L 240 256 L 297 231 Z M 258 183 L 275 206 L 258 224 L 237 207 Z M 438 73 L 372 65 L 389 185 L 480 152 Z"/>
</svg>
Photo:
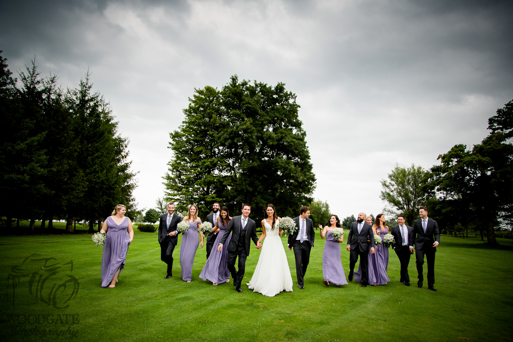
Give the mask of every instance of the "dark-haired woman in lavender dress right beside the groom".
<svg viewBox="0 0 513 342">
<path fill-rule="evenodd" d="M 228 212 L 228 208 L 221 207 L 219 210 L 220 216 L 218 217 L 215 226 L 212 228 L 212 232 L 215 232 L 219 229 L 218 237 L 215 238 L 214 246 L 219 246 L 219 242 L 223 237 L 223 234 L 228 228 L 228 224 L 231 221 L 230 213 Z M 228 235 L 226 239 L 226 246 L 230 243 L 231 233 Z M 200 273 L 200 278 L 203 280 L 212 281 L 212 285 L 216 286 L 221 283 L 229 283 L 230 282 L 230 271 L 228 270 L 228 248 L 223 248 L 221 252 L 218 252 L 217 249 L 212 249 L 210 255 L 208 256 L 207 262 L 203 267 L 203 270 Z"/>
</svg>

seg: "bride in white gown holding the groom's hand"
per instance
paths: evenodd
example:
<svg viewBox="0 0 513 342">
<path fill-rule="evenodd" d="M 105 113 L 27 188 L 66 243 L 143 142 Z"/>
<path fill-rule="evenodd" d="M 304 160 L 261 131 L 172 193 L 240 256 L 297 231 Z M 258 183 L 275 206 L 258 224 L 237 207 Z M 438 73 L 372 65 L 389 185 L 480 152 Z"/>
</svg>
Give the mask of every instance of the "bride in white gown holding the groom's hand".
<svg viewBox="0 0 513 342">
<path fill-rule="evenodd" d="M 265 238 L 260 252 L 257 268 L 246 285 L 253 292 L 273 297 L 282 291 L 292 291 L 292 277 L 287 261 L 287 254 L 280 238 L 280 218 L 274 212 L 274 206 L 265 208 L 266 218 L 262 220 L 262 235 L 258 242 Z M 273 228 L 274 223 L 274 228 Z"/>
</svg>

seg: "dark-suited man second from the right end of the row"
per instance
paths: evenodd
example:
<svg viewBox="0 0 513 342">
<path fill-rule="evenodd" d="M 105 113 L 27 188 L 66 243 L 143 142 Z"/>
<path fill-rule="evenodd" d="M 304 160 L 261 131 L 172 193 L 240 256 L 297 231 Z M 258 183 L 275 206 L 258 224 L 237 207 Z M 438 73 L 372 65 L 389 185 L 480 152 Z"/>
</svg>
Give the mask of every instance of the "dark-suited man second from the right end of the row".
<svg viewBox="0 0 513 342">
<path fill-rule="evenodd" d="M 410 276 L 408 274 L 408 264 L 410 263 L 410 256 L 413 254 L 413 243 L 409 241 L 411 231 L 413 228 L 406 226 L 403 215 L 397 217 L 399 225 L 390 228 L 390 234 L 393 235 L 395 243 L 392 248 L 396 251 L 399 262 L 401 263 L 401 278 L 399 281 L 406 286 L 410 286 Z"/>
</svg>

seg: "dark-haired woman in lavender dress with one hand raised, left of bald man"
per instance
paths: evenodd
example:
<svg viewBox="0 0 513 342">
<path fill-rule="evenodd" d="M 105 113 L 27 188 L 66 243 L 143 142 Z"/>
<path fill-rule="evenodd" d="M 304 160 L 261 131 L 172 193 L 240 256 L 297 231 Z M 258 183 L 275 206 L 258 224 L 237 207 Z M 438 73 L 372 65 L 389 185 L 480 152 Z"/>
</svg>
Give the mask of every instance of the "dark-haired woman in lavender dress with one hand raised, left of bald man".
<svg viewBox="0 0 513 342">
<path fill-rule="evenodd" d="M 344 235 L 338 239 L 334 238 L 331 231 L 335 228 L 341 227 L 339 216 L 333 214 L 329 218 L 329 225 L 320 230 L 321 238 L 326 237 L 322 253 L 323 283 L 326 286 L 329 286 L 330 281 L 335 285 L 348 284 L 340 256 L 340 244 L 344 242 Z"/>
</svg>

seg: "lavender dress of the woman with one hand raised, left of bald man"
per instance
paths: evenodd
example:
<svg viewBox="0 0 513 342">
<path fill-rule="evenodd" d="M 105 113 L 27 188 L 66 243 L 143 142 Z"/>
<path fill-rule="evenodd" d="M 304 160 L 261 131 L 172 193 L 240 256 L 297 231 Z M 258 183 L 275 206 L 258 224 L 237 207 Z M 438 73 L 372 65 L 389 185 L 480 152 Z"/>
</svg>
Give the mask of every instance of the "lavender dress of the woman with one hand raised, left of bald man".
<svg viewBox="0 0 513 342">
<path fill-rule="evenodd" d="M 326 233 L 326 242 L 322 253 L 322 273 L 324 279 L 330 283 L 335 285 L 347 284 L 340 256 L 340 243 L 331 235 L 331 230 Z"/>
</svg>

